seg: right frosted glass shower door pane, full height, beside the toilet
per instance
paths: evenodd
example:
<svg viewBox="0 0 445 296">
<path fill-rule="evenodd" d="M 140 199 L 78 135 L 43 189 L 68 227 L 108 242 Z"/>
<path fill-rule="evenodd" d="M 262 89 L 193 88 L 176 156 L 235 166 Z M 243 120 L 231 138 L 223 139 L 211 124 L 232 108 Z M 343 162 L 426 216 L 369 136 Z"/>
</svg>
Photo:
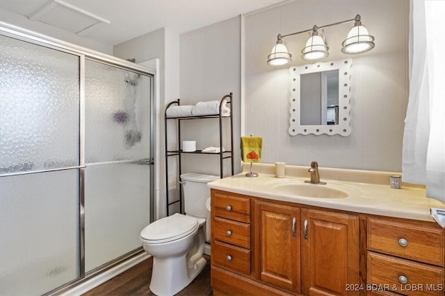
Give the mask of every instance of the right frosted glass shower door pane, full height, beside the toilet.
<svg viewBox="0 0 445 296">
<path fill-rule="evenodd" d="M 149 223 L 151 77 L 86 60 L 86 272 L 142 244 Z"/>
</svg>

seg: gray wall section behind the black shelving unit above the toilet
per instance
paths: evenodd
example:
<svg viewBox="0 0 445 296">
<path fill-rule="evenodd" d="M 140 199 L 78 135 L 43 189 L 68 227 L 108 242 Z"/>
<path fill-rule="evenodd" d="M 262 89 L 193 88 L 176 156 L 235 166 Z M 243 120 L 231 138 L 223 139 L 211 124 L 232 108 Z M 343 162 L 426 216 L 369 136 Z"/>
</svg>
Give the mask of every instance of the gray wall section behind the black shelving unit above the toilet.
<svg viewBox="0 0 445 296">
<path fill-rule="evenodd" d="M 220 100 L 233 93 L 235 172 L 241 171 L 240 159 L 240 100 L 241 100 L 241 18 L 235 17 L 180 36 L 180 97 L 181 105 L 199 101 Z M 228 122 L 228 121 L 226 121 Z M 218 120 L 184 122 L 184 140 L 195 140 L 197 149 L 219 146 Z M 225 125 L 225 131 L 229 128 Z M 224 133 L 223 143 L 229 142 Z M 229 145 L 224 144 L 228 150 Z M 184 155 L 184 172 L 219 175 L 216 155 Z M 225 161 L 225 172 L 230 172 Z"/>
</svg>

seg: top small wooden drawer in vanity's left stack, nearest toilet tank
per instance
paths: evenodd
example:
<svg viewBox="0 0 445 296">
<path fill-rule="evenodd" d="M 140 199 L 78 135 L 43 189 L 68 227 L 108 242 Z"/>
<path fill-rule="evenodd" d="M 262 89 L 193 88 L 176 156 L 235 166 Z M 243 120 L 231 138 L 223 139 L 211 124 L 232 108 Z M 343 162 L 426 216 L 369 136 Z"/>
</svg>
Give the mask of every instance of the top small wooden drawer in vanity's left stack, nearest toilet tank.
<svg viewBox="0 0 445 296">
<path fill-rule="evenodd" d="M 211 204 L 217 217 L 250 223 L 250 198 L 248 197 L 212 191 Z"/>
</svg>

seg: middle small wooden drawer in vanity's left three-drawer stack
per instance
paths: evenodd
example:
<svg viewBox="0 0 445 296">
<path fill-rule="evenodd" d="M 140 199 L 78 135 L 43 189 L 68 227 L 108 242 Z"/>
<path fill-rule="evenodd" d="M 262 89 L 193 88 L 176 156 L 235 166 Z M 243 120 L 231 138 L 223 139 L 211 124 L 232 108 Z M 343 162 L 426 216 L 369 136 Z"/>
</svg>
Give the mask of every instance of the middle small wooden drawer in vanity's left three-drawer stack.
<svg viewBox="0 0 445 296">
<path fill-rule="evenodd" d="M 250 249 L 250 224 L 216 217 L 213 237 L 218 241 Z"/>
</svg>

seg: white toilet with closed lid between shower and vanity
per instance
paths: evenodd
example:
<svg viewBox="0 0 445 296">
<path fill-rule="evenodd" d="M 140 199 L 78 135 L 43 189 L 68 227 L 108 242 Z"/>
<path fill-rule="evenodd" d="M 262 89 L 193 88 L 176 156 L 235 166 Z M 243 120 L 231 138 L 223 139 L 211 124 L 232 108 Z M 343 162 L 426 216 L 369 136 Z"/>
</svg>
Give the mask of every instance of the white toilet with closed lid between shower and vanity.
<svg viewBox="0 0 445 296">
<path fill-rule="evenodd" d="M 200 274 L 206 260 L 202 256 L 204 244 L 209 241 L 206 227 L 210 196 L 207 183 L 218 176 L 186 173 L 184 182 L 184 211 L 149 224 L 140 232 L 144 250 L 153 256 L 150 290 L 158 296 L 172 296 L 184 289 Z"/>
</svg>

